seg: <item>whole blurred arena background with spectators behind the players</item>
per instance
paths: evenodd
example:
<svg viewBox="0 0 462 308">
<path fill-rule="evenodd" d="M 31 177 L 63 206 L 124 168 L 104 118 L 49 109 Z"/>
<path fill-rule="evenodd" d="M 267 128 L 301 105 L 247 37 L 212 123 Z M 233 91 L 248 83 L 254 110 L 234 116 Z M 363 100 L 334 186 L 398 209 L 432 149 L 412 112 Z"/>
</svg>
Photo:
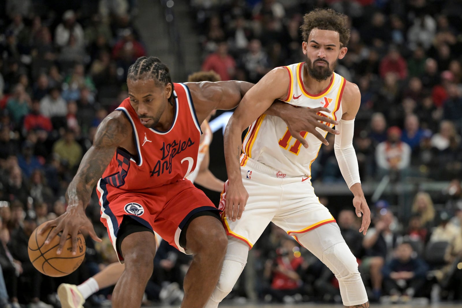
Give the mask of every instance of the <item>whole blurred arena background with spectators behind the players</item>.
<svg viewBox="0 0 462 308">
<path fill-rule="evenodd" d="M 461 301 L 461 0 L 0 0 L 0 305 L 38 297 L 59 307 L 60 283 L 79 284 L 117 260 L 96 193 L 87 214 L 104 240 L 87 237 L 78 271 L 45 277 L 26 248 L 38 224 L 66 210 L 67 185 L 98 124 L 128 96 L 138 57 L 159 57 L 174 82 L 214 70 L 256 83 L 275 66 L 304 61 L 299 26 L 314 7 L 350 18 L 336 72 L 362 93 L 354 146 L 373 216 L 367 236 L 358 233 L 333 135 L 312 165 L 315 191 L 357 257 L 371 301 Z M 211 121 L 210 169 L 222 180 L 229 115 Z M 218 204 L 219 193 L 204 190 Z M 178 305 L 189 262 L 160 242 L 145 303 Z M 110 305 L 111 292 L 85 306 Z M 340 292 L 327 267 L 270 225 L 226 301 L 338 303 Z"/>
</svg>

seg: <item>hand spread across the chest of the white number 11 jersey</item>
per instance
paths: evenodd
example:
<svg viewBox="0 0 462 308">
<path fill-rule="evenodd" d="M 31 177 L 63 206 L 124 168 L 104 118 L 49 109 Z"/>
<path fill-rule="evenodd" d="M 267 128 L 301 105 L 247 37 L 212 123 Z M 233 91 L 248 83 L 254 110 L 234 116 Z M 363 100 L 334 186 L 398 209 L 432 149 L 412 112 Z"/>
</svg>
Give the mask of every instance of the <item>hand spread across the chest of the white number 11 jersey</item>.
<svg viewBox="0 0 462 308">
<path fill-rule="evenodd" d="M 326 124 L 321 123 L 321 121 L 323 121 L 336 125 L 338 124 L 337 121 L 322 115 L 318 115 L 318 112 L 332 113 L 331 110 L 324 107 L 294 108 L 291 109 L 290 113 L 286 116 L 285 119 L 283 119 L 286 122 L 287 128 L 289 129 L 289 133 L 292 135 L 292 137 L 300 141 L 300 143 L 305 148 L 308 148 L 308 141 L 306 141 L 302 135 L 300 135 L 300 132 L 312 133 L 325 145 L 328 145 L 329 143 L 322 136 L 322 134 L 316 130 L 316 127 L 319 127 L 328 133 L 333 133 L 336 135 L 340 133 L 338 130 L 335 130 L 332 127 L 328 127 Z"/>
</svg>

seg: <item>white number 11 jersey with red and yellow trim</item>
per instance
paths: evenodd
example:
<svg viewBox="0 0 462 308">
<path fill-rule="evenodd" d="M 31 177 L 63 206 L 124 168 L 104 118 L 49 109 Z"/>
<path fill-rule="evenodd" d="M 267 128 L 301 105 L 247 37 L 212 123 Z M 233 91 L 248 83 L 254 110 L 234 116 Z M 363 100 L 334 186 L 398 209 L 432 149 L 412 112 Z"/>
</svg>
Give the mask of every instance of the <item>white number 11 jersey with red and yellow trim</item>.
<svg viewBox="0 0 462 308">
<path fill-rule="evenodd" d="M 322 115 L 334 120 L 342 117 L 341 98 L 346 80 L 339 74 L 332 75 L 330 84 L 319 94 L 310 94 L 304 88 L 304 62 L 295 63 L 286 68 L 290 77 L 290 86 L 285 102 L 301 108 L 325 107 L 330 113 Z M 328 123 L 326 123 L 328 124 Z M 328 124 L 332 126 L 332 124 Z M 327 133 L 317 130 L 325 137 Z M 243 157 L 241 166 L 245 166 L 247 158 L 264 163 L 273 169 L 280 170 L 280 177 L 310 176 L 311 163 L 316 159 L 322 142 L 313 134 L 302 132 L 308 141 L 308 149 L 295 138 L 292 138 L 286 123 L 277 116 L 261 115 L 249 127 L 243 141 Z"/>
</svg>

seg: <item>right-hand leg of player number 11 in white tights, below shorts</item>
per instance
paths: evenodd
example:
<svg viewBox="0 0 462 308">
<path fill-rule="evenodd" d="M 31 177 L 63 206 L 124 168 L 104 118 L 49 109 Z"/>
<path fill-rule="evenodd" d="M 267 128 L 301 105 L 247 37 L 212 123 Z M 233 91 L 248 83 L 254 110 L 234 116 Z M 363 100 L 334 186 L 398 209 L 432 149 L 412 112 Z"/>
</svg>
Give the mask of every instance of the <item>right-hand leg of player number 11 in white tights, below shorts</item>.
<svg viewBox="0 0 462 308">
<path fill-rule="evenodd" d="M 369 307 L 358 262 L 340 234 L 337 223 L 327 223 L 298 234 L 297 239 L 335 274 L 346 307 Z"/>
</svg>

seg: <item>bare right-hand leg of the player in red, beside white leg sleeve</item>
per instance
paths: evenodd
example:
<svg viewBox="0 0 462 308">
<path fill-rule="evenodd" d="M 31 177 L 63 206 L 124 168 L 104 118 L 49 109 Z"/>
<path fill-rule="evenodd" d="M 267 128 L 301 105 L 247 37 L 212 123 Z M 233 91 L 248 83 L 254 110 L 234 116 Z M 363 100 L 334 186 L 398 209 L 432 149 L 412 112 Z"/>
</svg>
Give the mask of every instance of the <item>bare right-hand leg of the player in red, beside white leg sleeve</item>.
<svg viewBox="0 0 462 308">
<path fill-rule="evenodd" d="M 213 216 L 194 218 L 186 230 L 186 249 L 194 259 L 184 278 L 182 308 L 203 308 L 215 288 L 226 253 L 223 225 Z"/>
</svg>

